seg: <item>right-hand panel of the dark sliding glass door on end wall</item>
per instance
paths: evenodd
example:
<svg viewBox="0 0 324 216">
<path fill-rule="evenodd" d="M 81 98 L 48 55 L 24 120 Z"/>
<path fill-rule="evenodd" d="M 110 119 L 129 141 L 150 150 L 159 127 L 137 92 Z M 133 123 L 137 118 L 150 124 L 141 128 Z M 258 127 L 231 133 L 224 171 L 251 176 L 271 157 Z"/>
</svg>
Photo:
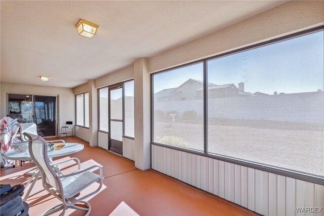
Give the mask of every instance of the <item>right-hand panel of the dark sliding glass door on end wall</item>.
<svg viewBox="0 0 324 216">
<path fill-rule="evenodd" d="M 34 120 L 38 135 L 56 136 L 56 97 L 34 95 Z"/>
</svg>

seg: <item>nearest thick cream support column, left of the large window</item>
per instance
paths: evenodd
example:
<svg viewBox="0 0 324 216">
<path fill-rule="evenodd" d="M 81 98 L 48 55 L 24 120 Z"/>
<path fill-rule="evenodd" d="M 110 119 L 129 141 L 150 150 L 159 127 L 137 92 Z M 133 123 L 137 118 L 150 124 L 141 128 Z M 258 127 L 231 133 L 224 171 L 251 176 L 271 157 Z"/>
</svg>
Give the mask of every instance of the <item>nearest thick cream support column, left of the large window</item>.
<svg viewBox="0 0 324 216">
<path fill-rule="evenodd" d="M 135 112 L 135 166 L 146 170 L 151 168 L 151 116 L 150 116 L 150 75 L 147 59 L 134 62 L 134 112 Z"/>
</svg>

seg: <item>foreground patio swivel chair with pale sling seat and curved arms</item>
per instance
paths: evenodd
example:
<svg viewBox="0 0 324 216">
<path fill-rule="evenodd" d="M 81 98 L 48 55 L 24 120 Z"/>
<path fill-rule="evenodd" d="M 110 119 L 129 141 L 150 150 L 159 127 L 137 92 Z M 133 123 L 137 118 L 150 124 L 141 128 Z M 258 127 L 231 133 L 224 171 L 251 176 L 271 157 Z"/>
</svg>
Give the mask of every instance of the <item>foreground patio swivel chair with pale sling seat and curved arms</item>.
<svg viewBox="0 0 324 216">
<path fill-rule="evenodd" d="M 29 140 L 29 154 L 39 168 L 39 171 L 41 171 L 44 189 L 62 201 L 61 204 L 53 206 L 42 215 L 49 215 L 62 209 L 62 215 L 64 215 L 68 208 L 87 210 L 88 212 L 86 215 L 89 215 L 91 212 L 91 206 L 90 203 L 84 201 L 84 199 L 100 191 L 103 184 L 102 168 L 99 165 L 94 165 L 84 170 L 78 169 L 77 171 L 67 175 L 57 173 L 49 162 L 47 155 L 48 145 L 46 140 L 41 136 L 30 133 L 24 133 L 24 135 L 28 137 Z M 94 168 L 99 168 L 100 175 L 90 171 Z M 98 181 L 100 184 L 95 191 L 83 197 L 77 197 L 81 191 Z M 83 203 L 88 208 L 76 206 L 76 203 Z"/>
</svg>

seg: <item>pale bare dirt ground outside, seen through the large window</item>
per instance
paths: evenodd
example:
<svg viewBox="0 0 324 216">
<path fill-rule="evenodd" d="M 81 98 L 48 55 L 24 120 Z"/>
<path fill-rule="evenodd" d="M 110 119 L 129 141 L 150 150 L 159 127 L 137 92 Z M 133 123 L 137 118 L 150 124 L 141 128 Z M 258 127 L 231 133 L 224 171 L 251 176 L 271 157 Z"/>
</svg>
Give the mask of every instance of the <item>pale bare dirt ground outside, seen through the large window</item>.
<svg viewBox="0 0 324 216">
<path fill-rule="evenodd" d="M 211 121 L 208 151 L 219 155 L 324 175 L 322 124 Z M 154 141 L 181 137 L 187 148 L 204 150 L 202 121 L 154 121 Z"/>
</svg>

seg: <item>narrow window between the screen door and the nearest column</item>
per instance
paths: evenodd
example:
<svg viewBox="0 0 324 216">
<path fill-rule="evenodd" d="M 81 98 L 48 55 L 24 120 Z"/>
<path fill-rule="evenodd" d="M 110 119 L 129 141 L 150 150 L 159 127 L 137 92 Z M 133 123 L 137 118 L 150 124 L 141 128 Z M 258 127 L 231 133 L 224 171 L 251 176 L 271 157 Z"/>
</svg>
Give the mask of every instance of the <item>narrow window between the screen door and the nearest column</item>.
<svg viewBox="0 0 324 216">
<path fill-rule="evenodd" d="M 124 135 L 134 137 L 134 81 L 124 83 Z"/>
</svg>

